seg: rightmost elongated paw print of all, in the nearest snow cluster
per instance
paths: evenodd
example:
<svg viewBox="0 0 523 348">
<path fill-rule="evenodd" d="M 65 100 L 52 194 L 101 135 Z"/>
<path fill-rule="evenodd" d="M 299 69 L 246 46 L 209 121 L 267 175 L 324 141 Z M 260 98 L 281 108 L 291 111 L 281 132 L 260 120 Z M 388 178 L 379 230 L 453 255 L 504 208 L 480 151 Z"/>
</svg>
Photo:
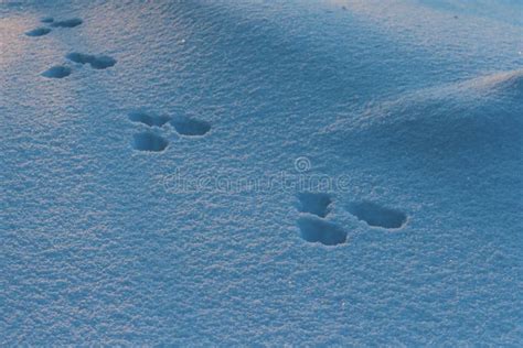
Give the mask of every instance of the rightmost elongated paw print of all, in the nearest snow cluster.
<svg viewBox="0 0 523 348">
<path fill-rule="evenodd" d="M 359 220 L 363 220 L 373 227 L 401 228 L 407 221 L 407 216 L 402 211 L 385 208 L 371 202 L 352 203 L 348 210 Z"/>
</svg>

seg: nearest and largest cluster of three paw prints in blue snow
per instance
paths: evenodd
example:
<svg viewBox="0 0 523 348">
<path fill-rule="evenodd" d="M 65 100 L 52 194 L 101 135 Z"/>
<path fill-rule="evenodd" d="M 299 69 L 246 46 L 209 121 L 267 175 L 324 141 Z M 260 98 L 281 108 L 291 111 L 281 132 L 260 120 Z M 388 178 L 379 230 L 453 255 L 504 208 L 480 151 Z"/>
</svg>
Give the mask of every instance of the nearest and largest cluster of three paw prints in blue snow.
<svg viewBox="0 0 523 348">
<path fill-rule="evenodd" d="M 348 231 L 327 220 L 332 198 L 323 193 L 301 193 L 298 195 L 298 219 L 301 238 L 308 242 L 337 246 L 346 242 Z M 398 229 L 407 221 L 407 216 L 396 209 L 382 207 L 372 202 L 351 203 L 346 210 L 370 227 Z"/>
</svg>

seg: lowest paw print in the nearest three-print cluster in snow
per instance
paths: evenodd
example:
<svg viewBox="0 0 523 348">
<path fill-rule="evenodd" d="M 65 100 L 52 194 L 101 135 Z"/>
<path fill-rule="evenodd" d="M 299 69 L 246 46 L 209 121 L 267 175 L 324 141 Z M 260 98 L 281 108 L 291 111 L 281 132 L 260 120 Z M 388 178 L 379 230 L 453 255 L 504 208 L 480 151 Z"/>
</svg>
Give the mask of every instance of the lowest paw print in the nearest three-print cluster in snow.
<svg viewBox="0 0 523 348">
<path fill-rule="evenodd" d="M 337 246 L 346 241 L 346 231 L 319 217 L 302 216 L 298 219 L 298 227 L 301 231 L 301 238 L 309 242 Z"/>
</svg>

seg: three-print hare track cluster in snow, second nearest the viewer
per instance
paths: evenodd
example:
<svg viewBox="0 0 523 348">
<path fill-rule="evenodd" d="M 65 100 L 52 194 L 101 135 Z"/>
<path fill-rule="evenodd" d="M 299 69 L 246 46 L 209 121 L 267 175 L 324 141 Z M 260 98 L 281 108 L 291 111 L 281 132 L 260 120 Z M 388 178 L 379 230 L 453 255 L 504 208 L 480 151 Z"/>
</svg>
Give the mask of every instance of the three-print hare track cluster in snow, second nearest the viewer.
<svg viewBox="0 0 523 348">
<path fill-rule="evenodd" d="M 170 123 L 174 130 L 184 137 L 201 137 L 211 130 L 211 124 L 184 116 L 168 117 L 157 116 L 143 111 L 134 111 L 128 115 L 129 120 L 135 123 L 141 123 L 148 127 L 147 131 L 134 135 L 132 148 L 138 151 L 162 152 L 169 145 L 169 141 L 153 128 L 163 128 Z"/>
</svg>

